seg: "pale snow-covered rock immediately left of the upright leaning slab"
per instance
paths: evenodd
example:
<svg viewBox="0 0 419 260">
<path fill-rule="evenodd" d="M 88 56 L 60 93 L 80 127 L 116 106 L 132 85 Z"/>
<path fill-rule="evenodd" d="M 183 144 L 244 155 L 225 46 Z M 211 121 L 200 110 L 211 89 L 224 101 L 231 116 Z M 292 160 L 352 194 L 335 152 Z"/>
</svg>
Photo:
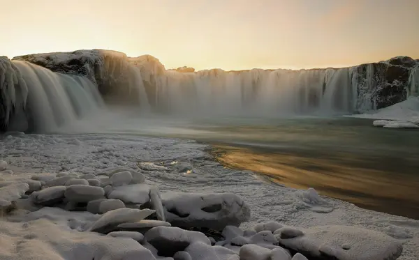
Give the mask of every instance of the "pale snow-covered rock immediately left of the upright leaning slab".
<svg viewBox="0 0 419 260">
<path fill-rule="evenodd" d="M 121 199 L 126 204 L 145 204 L 149 201 L 150 186 L 147 184 L 133 184 L 116 187 L 108 198 Z"/>
</svg>

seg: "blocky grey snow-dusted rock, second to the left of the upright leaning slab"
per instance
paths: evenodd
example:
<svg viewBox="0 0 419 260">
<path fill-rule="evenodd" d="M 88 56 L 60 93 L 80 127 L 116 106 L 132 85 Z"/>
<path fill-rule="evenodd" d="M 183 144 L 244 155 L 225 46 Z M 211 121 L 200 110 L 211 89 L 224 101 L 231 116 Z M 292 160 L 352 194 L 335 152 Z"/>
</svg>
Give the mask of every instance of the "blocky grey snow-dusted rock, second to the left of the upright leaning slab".
<svg viewBox="0 0 419 260">
<path fill-rule="evenodd" d="M 75 202 L 89 202 L 105 197 L 105 191 L 101 187 L 88 185 L 71 185 L 64 194 L 66 199 Z"/>
</svg>

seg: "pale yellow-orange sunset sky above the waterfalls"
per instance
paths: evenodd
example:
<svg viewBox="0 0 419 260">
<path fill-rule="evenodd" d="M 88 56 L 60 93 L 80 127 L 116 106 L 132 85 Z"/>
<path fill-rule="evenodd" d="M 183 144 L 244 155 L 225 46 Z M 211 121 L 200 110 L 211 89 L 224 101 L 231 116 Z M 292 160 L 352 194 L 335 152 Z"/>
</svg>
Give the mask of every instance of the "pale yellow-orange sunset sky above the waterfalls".
<svg viewBox="0 0 419 260">
<path fill-rule="evenodd" d="M 419 59 L 419 0 L 0 0 L 0 55 L 112 49 L 166 68 Z"/>
</svg>

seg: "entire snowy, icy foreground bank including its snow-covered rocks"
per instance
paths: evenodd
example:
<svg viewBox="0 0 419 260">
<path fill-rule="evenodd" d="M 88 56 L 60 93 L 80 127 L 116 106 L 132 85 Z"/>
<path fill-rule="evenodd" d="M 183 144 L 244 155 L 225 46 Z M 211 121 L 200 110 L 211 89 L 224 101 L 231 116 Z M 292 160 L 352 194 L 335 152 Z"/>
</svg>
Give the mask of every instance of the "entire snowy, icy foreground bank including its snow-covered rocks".
<svg viewBox="0 0 419 260">
<path fill-rule="evenodd" d="M 419 221 L 264 183 L 196 142 L 19 134 L 1 143 L 10 202 L 1 259 L 419 258 Z M 108 198 L 124 187 L 130 196 Z"/>
</svg>

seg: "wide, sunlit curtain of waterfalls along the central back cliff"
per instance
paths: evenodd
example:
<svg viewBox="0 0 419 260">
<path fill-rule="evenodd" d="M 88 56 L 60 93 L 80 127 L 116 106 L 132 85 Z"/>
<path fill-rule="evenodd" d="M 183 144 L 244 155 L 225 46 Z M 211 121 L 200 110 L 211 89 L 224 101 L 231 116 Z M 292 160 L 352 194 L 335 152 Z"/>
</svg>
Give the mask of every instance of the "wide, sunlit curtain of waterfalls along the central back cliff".
<svg viewBox="0 0 419 260">
<path fill-rule="evenodd" d="M 172 114 L 341 114 L 357 105 L 351 68 L 224 72 L 168 70 L 156 106 Z"/>
</svg>

